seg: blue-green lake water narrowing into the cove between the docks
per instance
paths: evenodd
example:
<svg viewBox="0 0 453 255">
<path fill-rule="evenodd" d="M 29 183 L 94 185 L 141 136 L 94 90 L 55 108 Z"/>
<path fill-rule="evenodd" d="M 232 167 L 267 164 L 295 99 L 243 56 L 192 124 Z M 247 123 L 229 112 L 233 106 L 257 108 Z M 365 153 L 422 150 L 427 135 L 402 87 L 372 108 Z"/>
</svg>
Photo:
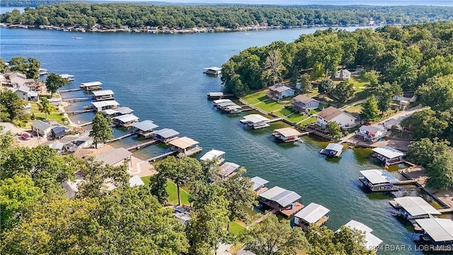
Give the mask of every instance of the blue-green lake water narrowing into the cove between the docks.
<svg viewBox="0 0 453 255">
<path fill-rule="evenodd" d="M 1 28 L 0 52 L 6 61 L 18 55 L 36 57 L 50 72 L 73 74 L 76 80 L 64 89 L 101 81 L 103 89 L 112 89 L 115 100 L 134 109 L 141 120 L 154 120 L 161 128 L 173 128 L 199 141 L 204 152 L 224 150 L 226 160 L 245 166 L 249 176 L 268 179 L 269 187 L 296 191 L 305 205 L 315 202 L 326 206 L 331 210 L 327 225 L 333 230 L 353 219 L 372 227 L 384 245 L 413 245 L 412 239 L 418 234 L 408 231 L 391 215 L 390 197 L 367 195 L 360 187 L 360 170 L 382 168 L 365 158 L 369 151 L 348 149 L 340 159 L 325 159 L 319 151 L 326 142 L 304 137 L 304 142 L 295 145 L 277 144 L 270 133 L 284 124 L 244 130 L 239 123 L 241 115 L 214 111 L 207 101 L 208 91 L 221 91 L 223 86 L 218 77 L 202 74 L 203 67 L 221 66 L 246 47 L 275 40 L 290 42 L 302 33 L 313 32 L 314 29 L 292 29 L 154 35 Z M 74 40 L 73 36 L 82 39 Z M 81 95 L 81 91 L 63 94 Z M 71 108 L 80 110 L 89 103 L 74 103 Z M 75 115 L 74 121 L 84 122 L 91 117 Z M 115 130 L 115 135 L 121 133 Z M 133 142 L 132 138 L 126 139 L 115 146 Z M 157 145 L 134 154 L 147 159 L 165 150 Z"/>
</svg>

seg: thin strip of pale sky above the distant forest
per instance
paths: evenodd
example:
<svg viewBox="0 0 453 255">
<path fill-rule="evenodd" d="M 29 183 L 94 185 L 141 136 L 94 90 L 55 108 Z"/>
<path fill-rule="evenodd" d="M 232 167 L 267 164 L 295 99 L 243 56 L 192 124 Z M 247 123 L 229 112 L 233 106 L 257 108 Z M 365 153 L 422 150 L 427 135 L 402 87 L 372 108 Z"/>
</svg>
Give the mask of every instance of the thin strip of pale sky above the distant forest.
<svg viewBox="0 0 453 255">
<path fill-rule="evenodd" d="M 156 0 L 113 0 L 113 1 L 156 1 Z M 159 0 L 157 0 L 159 1 Z M 426 6 L 453 6 L 453 0 L 161 0 L 168 3 L 209 3 L 209 4 L 281 4 L 281 5 L 307 5 L 307 4 L 328 4 L 328 5 L 352 5 L 366 4 L 374 6 L 404 6 L 404 5 L 426 5 Z"/>
</svg>

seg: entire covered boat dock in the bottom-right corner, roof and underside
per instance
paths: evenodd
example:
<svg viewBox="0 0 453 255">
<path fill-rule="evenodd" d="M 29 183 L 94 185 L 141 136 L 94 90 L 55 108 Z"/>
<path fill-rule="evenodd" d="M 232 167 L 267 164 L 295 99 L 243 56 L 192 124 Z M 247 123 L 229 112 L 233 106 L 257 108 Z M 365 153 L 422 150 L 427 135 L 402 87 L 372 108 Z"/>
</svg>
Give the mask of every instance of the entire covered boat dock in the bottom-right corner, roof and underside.
<svg viewBox="0 0 453 255">
<path fill-rule="evenodd" d="M 435 247 L 445 246 L 445 251 L 451 251 L 453 245 L 452 219 L 428 218 L 415 220 L 415 222 L 423 229 L 420 241 Z M 442 251 L 442 249 L 438 250 Z"/>
</svg>

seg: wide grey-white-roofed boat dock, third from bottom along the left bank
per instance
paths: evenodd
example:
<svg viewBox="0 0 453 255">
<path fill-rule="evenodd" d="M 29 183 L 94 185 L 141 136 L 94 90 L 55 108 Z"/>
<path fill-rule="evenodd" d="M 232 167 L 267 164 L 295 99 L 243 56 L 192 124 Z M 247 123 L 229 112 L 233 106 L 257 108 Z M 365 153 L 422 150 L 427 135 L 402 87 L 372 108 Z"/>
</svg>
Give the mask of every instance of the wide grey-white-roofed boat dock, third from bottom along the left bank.
<svg viewBox="0 0 453 255">
<path fill-rule="evenodd" d="M 301 198 L 299 194 L 294 191 L 288 191 L 285 188 L 275 186 L 260 193 L 260 203 L 272 209 L 273 213 L 280 212 L 280 214 L 290 217 L 296 212 L 299 212 L 304 205 L 298 203 L 297 200 Z"/>
</svg>

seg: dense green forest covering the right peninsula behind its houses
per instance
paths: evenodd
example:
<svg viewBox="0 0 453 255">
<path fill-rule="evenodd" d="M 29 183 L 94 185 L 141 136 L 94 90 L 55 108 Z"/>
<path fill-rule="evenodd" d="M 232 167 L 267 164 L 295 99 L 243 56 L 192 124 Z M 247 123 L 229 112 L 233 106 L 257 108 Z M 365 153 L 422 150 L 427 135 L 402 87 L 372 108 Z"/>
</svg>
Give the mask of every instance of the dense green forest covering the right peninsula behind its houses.
<svg viewBox="0 0 453 255">
<path fill-rule="evenodd" d="M 425 166 L 430 186 L 452 187 L 453 154 L 448 147 L 453 143 L 452 21 L 376 31 L 329 28 L 294 42 L 250 47 L 222 65 L 222 81 L 226 89 L 243 96 L 280 81 L 300 82 L 299 92 L 305 93 L 304 84 L 309 84 L 309 91 L 311 81 L 323 79 L 319 93 L 336 94 L 341 101 L 341 96 L 349 96 L 349 82 L 335 85 L 329 78 L 343 67 L 361 67 L 369 82 L 362 120 L 376 120 L 377 110 L 387 111 L 394 96 L 415 91 L 428 108 L 402 122 L 418 141 L 409 147 L 408 158 Z M 438 149 L 427 150 L 433 147 Z"/>
</svg>

